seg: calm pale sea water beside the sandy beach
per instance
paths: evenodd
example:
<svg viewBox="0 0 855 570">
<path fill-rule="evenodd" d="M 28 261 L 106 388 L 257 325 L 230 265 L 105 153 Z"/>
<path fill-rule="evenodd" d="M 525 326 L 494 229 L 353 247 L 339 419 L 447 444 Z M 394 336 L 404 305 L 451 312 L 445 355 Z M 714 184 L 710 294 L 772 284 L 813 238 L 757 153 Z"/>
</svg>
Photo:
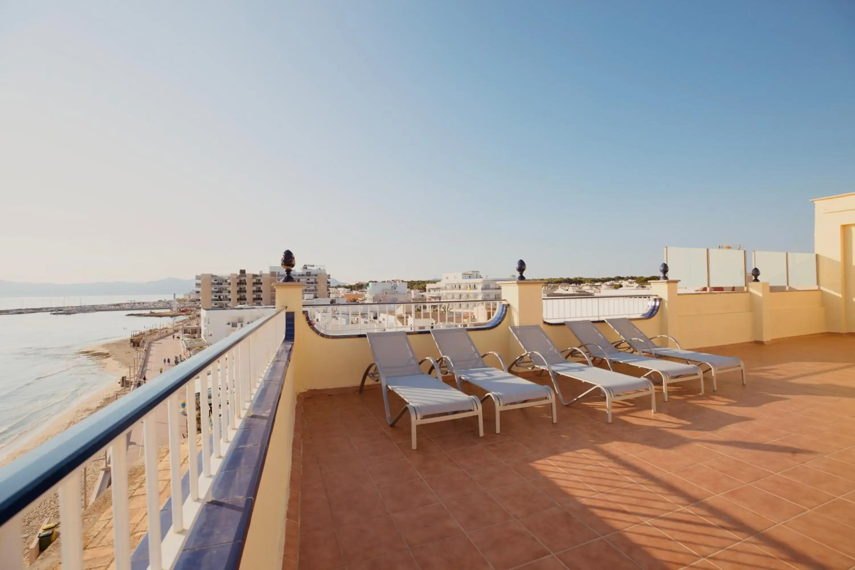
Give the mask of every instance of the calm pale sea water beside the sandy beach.
<svg viewBox="0 0 855 570">
<path fill-rule="evenodd" d="M 62 307 L 164 297 L 0 297 L 0 309 L 20 308 L 22 304 Z M 81 355 L 82 348 L 127 338 L 133 331 L 173 321 L 127 316 L 130 312 L 0 314 L 0 458 L 26 439 L 29 432 L 71 409 L 76 400 L 118 381 L 103 371 L 97 359 Z"/>
</svg>

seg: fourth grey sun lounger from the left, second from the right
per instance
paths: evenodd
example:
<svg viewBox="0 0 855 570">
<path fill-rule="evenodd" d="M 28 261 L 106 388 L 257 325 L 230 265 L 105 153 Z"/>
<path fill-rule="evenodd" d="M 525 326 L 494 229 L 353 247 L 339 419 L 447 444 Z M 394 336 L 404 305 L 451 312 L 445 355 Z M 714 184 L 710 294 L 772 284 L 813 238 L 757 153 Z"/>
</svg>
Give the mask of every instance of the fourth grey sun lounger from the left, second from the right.
<svg viewBox="0 0 855 570">
<path fill-rule="evenodd" d="M 620 362 L 647 370 L 645 377 L 658 373 L 662 379 L 662 393 L 665 402 L 668 402 L 668 385 L 675 382 L 697 379 L 700 382 L 700 393 L 704 393 L 704 374 L 701 373 L 699 367 L 693 364 L 665 361 L 660 358 L 634 355 L 617 350 L 590 320 L 566 320 L 564 324 L 573 332 L 575 338 L 579 339 L 580 348 L 585 349 L 593 358 L 605 361 L 610 370 L 612 369 L 612 362 Z"/>
</svg>

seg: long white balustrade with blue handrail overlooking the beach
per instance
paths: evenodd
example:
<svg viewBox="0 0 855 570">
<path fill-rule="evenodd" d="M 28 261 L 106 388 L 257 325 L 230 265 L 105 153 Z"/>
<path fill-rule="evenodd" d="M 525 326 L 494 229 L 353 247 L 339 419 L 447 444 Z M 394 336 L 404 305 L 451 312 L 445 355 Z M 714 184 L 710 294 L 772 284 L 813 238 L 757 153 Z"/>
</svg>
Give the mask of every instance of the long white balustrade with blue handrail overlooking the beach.
<svg viewBox="0 0 855 570">
<path fill-rule="evenodd" d="M 252 398 L 273 360 L 286 330 L 286 313 L 256 320 L 220 342 L 131 391 L 35 450 L 0 469 L 0 560 L 9 570 L 23 568 L 21 516 L 51 491 L 59 491 L 63 570 L 84 567 L 80 474 L 92 456 L 109 450 L 113 495 L 113 550 L 116 570 L 131 568 L 131 526 L 128 497 L 128 441 L 142 421 L 145 495 L 148 516 L 148 560 L 152 568 L 172 567 L 203 502 L 210 495 L 237 430 L 251 414 Z M 209 381 L 209 379 L 211 381 Z M 202 473 L 198 473 L 197 402 L 202 440 Z M 182 414 L 180 398 L 186 398 Z M 207 402 L 206 402 L 207 401 Z M 173 499 L 181 494 L 181 432 L 188 434 L 186 501 L 172 501 L 172 526 L 161 532 L 157 479 L 156 408 L 165 404 L 168 455 Z M 139 428 L 138 428 L 139 429 Z M 165 442 L 164 442 L 165 443 Z M 139 449 L 139 448 L 138 448 Z M 152 537 L 163 536 L 162 540 Z"/>
</svg>

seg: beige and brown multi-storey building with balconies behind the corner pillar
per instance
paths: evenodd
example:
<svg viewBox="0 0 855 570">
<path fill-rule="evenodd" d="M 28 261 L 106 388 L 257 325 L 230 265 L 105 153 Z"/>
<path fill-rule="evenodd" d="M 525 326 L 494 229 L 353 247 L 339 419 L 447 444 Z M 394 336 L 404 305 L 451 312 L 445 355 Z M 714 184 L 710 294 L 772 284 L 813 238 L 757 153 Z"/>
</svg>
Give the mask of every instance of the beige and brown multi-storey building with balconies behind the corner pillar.
<svg viewBox="0 0 855 570">
<path fill-rule="evenodd" d="M 292 277 L 303 284 L 306 299 L 329 297 L 329 276 L 323 266 L 304 265 L 292 271 Z M 202 273 L 196 276 L 196 293 L 202 309 L 227 309 L 245 305 L 274 305 L 274 283 L 284 272 L 280 267 L 270 267 L 268 273 L 238 273 L 217 275 Z"/>
</svg>

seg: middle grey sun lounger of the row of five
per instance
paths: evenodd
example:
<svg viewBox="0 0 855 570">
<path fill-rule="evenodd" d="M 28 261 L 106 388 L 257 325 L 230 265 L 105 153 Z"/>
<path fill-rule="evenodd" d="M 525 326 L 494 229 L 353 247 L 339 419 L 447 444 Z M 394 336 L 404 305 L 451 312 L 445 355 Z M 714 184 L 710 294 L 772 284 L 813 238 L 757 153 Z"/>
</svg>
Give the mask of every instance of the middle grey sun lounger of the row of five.
<svg viewBox="0 0 855 570">
<path fill-rule="evenodd" d="M 532 362 L 533 367 L 545 370 L 549 373 L 558 399 L 565 406 L 569 406 L 591 391 L 599 390 L 605 396 L 606 420 L 609 423 L 611 423 L 611 403 L 620 400 L 650 396 L 652 411 L 656 412 L 656 391 L 649 379 L 635 378 L 634 376 L 593 367 L 587 354 L 583 350 L 576 348 L 568 349 L 570 354 L 574 351 L 579 353 L 585 359 L 587 365 L 581 362 L 568 361 L 562 356 L 562 353 L 552 343 L 551 339 L 546 336 L 546 333 L 540 326 L 511 326 L 510 332 L 513 332 L 517 342 L 522 346 L 522 350 L 525 350 L 525 353 L 517 358 L 511 366 L 518 364 L 524 358 L 528 358 Z M 593 385 L 593 387 L 582 392 L 569 402 L 565 402 L 561 395 L 561 388 L 558 387 L 555 378 L 556 375 L 580 380 L 581 382 Z"/>
</svg>

